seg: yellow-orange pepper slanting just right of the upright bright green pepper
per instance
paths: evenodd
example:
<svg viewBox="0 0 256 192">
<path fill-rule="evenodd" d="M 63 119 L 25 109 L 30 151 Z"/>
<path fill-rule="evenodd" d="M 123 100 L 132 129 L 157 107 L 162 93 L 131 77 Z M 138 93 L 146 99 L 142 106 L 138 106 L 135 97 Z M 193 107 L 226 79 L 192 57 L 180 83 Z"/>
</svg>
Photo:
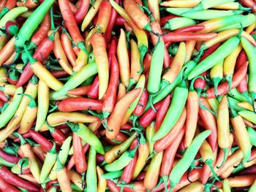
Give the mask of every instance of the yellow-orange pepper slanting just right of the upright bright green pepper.
<svg viewBox="0 0 256 192">
<path fill-rule="evenodd" d="M 178 73 L 181 72 L 181 68 L 184 65 L 186 58 L 186 45 L 184 42 L 181 42 L 178 46 L 177 53 L 173 58 L 172 63 L 170 64 L 170 69 L 162 76 L 162 87 L 172 83 Z"/>
</svg>

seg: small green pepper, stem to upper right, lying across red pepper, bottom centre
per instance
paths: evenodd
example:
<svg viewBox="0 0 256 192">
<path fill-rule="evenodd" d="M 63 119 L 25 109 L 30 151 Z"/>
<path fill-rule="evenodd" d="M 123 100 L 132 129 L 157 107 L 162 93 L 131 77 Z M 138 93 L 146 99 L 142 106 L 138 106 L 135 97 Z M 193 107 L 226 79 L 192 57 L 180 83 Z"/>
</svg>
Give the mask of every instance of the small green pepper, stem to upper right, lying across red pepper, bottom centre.
<svg viewBox="0 0 256 192">
<path fill-rule="evenodd" d="M 137 149 L 138 145 L 133 150 L 127 150 L 118 159 L 116 159 L 116 161 L 105 165 L 105 170 L 108 172 L 116 172 L 124 169 L 124 167 L 127 166 L 130 161 L 132 161 L 132 158 L 135 157 Z"/>
</svg>

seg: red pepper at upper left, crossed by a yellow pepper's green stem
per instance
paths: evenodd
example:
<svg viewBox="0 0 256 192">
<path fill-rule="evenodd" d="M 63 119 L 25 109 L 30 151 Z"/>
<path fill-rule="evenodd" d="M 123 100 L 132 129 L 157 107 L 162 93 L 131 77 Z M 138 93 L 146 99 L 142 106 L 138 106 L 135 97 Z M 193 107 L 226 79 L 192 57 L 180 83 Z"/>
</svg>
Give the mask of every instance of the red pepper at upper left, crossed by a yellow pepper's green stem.
<svg viewBox="0 0 256 192">
<path fill-rule="evenodd" d="M 33 55 L 33 58 L 37 59 L 40 63 L 44 59 L 50 55 L 50 52 L 53 50 L 54 46 L 54 34 L 50 34 L 47 38 L 42 40 L 42 43 L 37 47 L 36 52 Z M 27 64 L 25 69 L 23 70 L 22 74 L 20 75 L 20 78 L 16 84 L 16 87 L 20 87 L 24 85 L 26 82 L 30 80 L 30 78 L 33 76 L 34 72 L 32 72 L 30 65 Z"/>
</svg>

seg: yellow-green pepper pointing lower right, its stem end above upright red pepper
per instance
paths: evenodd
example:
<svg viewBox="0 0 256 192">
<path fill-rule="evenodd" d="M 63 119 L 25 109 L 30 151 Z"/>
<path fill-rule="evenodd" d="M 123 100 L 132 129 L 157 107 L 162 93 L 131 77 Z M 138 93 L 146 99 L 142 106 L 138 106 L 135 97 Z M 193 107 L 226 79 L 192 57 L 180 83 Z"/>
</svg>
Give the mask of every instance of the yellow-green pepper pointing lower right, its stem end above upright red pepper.
<svg viewBox="0 0 256 192">
<path fill-rule="evenodd" d="M 81 139 L 94 147 L 98 153 L 104 155 L 105 151 L 99 138 L 83 123 L 67 123 L 73 133 L 77 134 Z"/>
</svg>

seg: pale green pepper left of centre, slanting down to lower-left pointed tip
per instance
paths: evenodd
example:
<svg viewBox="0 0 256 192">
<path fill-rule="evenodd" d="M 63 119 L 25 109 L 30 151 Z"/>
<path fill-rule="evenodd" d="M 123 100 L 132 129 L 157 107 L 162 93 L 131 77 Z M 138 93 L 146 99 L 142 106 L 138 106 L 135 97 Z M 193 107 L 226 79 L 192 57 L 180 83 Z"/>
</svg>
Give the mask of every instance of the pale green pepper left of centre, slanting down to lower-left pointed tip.
<svg viewBox="0 0 256 192">
<path fill-rule="evenodd" d="M 53 99 L 66 95 L 69 90 L 78 87 L 78 85 L 82 84 L 85 80 L 89 79 L 89 77 L 93 76 L 94 74 L 97 74 L 96 63 L 83 66 L 83 68 L 74 74 L 59 91 L 53 93 Z"/>
</svg>

